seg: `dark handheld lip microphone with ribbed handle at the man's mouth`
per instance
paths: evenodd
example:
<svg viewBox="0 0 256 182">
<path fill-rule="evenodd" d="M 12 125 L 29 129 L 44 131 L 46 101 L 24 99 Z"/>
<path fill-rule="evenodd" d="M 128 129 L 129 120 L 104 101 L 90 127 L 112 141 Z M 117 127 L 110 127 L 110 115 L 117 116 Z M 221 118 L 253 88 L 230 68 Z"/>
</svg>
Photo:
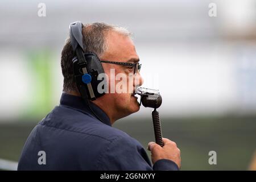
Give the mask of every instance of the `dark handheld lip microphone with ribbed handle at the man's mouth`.
<svg viewBox="0 0 256 182">
<path fill-rule="evenodd" d="M 159 146 L 163 147 L 163 139 L 162 139 L 162 130 L 159 113 L 156 110 L 162 104 L 162 96 L 159 94 L 159 90 L 148 89 L 138 87 L 135 90 L 135 93 L 141 96 L 141 103 L 144 107 L 151 107 L 154 110 L 152 111 L 152 120 L 154 126 L 155 133 L 155 142 L 159 144 Z"/>
</svg>

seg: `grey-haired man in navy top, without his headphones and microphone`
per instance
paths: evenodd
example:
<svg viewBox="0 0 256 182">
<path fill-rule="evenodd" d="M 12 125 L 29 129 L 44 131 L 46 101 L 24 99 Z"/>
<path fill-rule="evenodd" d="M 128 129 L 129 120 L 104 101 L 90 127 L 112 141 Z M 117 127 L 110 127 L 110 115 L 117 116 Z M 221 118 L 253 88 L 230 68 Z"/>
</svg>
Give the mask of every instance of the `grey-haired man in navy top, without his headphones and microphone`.
<svg viewBox="0 0 256 182">
<path fill-rule="evenodd" d="M 85 52 L 96 53 L 100 60 L 139 61 L 130 33 L 125 28 L 105 23 L 85 24 L 82 36 Z M 28 137 L 18 170 L 178 170 L 181 159 L 175 142 L 163 138 L 163 147 L 155 142 L 148 143 L 154 164 L 151 166 L 142 145 L 112 127 L 118 119 L 139 110 L 133 93 L 106 93 L 92 101 L 92 113 L 73 78 L 74 56 L 68 39 L 61 52 L 64 86 L 60 105 Z M 127 85 L 133 81 L 133 90 L 143 83 L 139 69 L 135 72 L 135 67 L 109 63 L 102 63 L 102 67 L 110 78 L 109 90 L 111 85 L 117 84 L 111 76 L 113 70 L 115 75 L 127 75 Z"/>
</svg>

